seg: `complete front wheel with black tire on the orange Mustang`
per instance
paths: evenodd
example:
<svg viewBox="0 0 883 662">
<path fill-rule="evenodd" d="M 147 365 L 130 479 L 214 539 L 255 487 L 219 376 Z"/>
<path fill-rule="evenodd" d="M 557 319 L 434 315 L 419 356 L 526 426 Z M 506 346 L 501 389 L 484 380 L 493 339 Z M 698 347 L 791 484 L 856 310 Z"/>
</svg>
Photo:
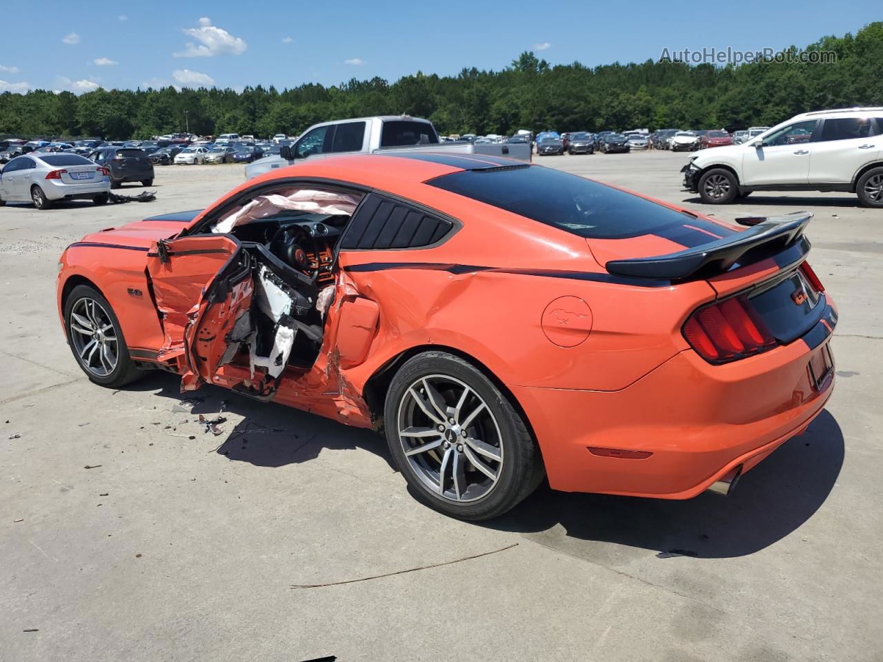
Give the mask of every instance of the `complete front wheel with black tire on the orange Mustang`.
<svg viewBox="0 0 883 662">
<path fill-rule="evenodd" d="M 108 322 L 112 327 L 113 340 L 110 338 Z M 71 290 L 64 302 L 64 328 L 77 365 L 95 384 L 118 388 L 144 374 L 129 357 L 123 331 L 113 308 L 102 293 L 93 287 L 77 285 Z M 87 335 L 88 331 L 94 329 L 103 331 L 99 342 L 96 342 L 94 336 Z M 111 358 L 114 358 L 112 362 Z M 110 370 L 109 365 L 112 365 Z"/>
</svg>

